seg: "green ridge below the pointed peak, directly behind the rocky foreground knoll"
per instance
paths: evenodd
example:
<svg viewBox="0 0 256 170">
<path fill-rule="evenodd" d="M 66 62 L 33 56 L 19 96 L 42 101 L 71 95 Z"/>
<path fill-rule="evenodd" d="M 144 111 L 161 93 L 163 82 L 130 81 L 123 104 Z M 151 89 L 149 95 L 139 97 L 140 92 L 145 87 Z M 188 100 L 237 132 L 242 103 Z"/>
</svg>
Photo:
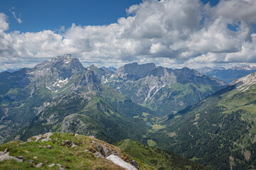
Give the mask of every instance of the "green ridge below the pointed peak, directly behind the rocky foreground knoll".
<svg viewBox="0 0 256 170">
<path fill-rule="evenodd" d="M 107 142 L 117 142 L 127 137 L 139 140 L 146 132 L 146 123 L 143 120 L 117 113 L 115 108 L 99 94 L 68 94 L 56 98 L 53 103 L 57 104 L 49 106 L 46 111 L 37 115 L 31 120 L 30 125 L 21 129 L 16 135 L 20 135 L 21 140 L 26 140 L 28 135 L 49 131 L 63 132 L 63 121 L 71 118 L 70 116 L 73 116 L 73 119 L 65 132 L 95 135 Z M 47 119 L 51 117 L 53 120 L 48 122 Z"/>
</svg>

